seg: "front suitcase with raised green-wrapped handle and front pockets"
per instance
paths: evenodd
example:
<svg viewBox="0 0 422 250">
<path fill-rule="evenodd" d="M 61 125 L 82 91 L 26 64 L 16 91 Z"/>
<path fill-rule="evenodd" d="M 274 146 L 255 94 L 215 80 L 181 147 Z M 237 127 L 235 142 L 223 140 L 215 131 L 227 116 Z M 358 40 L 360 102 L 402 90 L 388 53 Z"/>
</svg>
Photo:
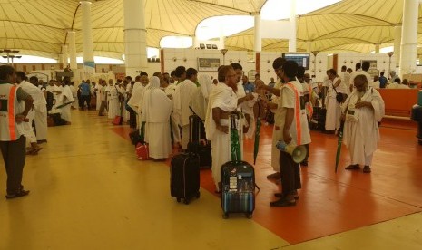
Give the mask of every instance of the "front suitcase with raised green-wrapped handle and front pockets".
<svg viewBox="0 0 422 250">
<path fill-rule="evenodd" d="M 231 161 L 221 166 L 221 208 L 223 218 L 231 213 L 252 217 L 255 209 L 255 171 L 252 165 L 240 160 L 239 135 L 231 116 Z"/>
</svg>

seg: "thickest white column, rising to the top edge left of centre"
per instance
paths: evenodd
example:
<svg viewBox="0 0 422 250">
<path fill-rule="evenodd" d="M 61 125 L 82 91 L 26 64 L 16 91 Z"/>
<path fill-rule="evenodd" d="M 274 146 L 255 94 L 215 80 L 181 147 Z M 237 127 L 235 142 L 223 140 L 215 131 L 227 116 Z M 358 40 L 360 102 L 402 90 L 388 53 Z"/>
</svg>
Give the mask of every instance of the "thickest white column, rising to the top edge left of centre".
<svg viewBox="0 0 422 250">
<path fill-rule="evenodd" d="M 143 0 L 124 0 L 124 50 L 126 75 L 139 75 L 148 68 L 145 9 Z"/>
</svg>

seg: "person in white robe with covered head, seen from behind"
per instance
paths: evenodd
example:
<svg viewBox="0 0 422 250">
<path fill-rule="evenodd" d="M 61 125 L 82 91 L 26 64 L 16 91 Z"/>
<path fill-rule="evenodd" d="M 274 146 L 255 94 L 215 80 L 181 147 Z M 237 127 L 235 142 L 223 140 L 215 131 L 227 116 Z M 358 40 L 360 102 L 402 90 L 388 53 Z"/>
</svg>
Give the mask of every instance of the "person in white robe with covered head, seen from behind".
<svg viewBox="0 0 422 250">
<path fill-rule="evenodd" d="M 145 121 L 145 141 L 149 145 L 149 156 L 154 160 L 167 159 L 172 154 L 172 101 L 160 89 L 158 77 L 152 76 L 142 101 L 142 120 Z"/>
</svg>

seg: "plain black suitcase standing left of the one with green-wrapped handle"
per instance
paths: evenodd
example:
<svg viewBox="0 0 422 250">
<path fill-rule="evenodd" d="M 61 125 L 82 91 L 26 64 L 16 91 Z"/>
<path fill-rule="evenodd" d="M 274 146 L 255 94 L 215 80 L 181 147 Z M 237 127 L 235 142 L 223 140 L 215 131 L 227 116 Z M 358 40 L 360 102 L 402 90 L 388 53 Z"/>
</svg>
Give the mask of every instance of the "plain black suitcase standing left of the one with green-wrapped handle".
<svg viewBox="0 0 422 250">
<path fill-rule="evenodd" d="M 172 157 L 170 165 L 170 193 L 177 202 L 189 204 L 192 197 L 200 197 L 200 159 L 192 153 Z"/>
</svg>

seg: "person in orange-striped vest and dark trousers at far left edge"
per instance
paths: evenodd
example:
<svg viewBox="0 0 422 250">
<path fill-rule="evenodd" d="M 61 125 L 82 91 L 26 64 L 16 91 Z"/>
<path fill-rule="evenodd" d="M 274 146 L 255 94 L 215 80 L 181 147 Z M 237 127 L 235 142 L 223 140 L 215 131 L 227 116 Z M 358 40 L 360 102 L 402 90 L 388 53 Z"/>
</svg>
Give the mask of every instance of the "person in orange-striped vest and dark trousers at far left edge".
<svg viewBox="0 0 422 250">
<path fill-rule="evenodd" d="M 0 149 L 7 173 L 6 198 L 23 197 L 29 191 L 22 186 L 25 166 L 25 136 L 23 122 L 33 106 L 31 95 L 15 86 L 15 69 L 0 66 Z M 25 101 L 25 107 L 19 102 Z"/>
</svg>

